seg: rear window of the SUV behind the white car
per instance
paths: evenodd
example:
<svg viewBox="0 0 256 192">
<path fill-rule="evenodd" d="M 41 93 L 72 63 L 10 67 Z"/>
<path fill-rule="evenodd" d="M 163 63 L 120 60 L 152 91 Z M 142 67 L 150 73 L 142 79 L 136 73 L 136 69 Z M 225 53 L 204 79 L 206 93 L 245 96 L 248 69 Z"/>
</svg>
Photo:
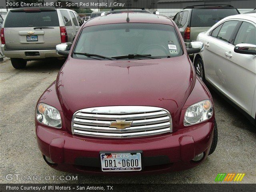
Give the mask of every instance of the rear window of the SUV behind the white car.
<svg viewBox="0 0 256 192">
<path fill-rule="evenodd" d="M 191 27 L 211 27 L 223 18 L 238 14 L 236 9 L 194 9 Z"/>
</svg>

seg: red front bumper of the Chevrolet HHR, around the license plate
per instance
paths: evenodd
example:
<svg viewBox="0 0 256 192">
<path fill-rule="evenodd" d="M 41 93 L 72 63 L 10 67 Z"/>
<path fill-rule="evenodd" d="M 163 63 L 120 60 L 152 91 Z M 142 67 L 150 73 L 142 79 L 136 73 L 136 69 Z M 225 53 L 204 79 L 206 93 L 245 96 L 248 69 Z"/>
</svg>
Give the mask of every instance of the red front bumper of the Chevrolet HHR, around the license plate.
<svg viewBox="0 0 256 192">
<path fill-rule="evenodd" d="M 144 138 L 106 139 L 90 138 L 36 126 L 38 146 L 43 155 L 56 165 L 52 168 L 66 172 L 90 174 L 143 174 L 179 171 L 197 166 L 205 160 L 210 150 L 214 123 L 206 122 L 172 134 Z M 102 172 L 100 151 L 142 151 L 142 171 Z M 191 161 L 204 152 L 200 162 Z"/>
</svg>

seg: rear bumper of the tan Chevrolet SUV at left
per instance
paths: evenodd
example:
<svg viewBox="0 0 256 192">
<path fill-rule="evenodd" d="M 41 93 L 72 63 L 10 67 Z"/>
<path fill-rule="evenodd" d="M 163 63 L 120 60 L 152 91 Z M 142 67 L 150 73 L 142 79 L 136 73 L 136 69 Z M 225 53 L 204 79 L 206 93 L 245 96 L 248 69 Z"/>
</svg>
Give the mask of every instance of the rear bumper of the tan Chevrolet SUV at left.
<svg viewBox="0 0 256 192">
<path fill-rule="evenodd" d="M 4 44 L 1 45 L 2 53 L 9 58 L 22 58 L 22 59 L 43 59 L 47 57 L 60 57 L 56 53 L 56 49 L 31 49 L 31 50 L 18 50 L 18 49 L 6 49 Z M 27 53 L 37 53 L 39 55 L 31 56 Z M 27 55 L 26 55 L 27 54 Z"/>
</svg>

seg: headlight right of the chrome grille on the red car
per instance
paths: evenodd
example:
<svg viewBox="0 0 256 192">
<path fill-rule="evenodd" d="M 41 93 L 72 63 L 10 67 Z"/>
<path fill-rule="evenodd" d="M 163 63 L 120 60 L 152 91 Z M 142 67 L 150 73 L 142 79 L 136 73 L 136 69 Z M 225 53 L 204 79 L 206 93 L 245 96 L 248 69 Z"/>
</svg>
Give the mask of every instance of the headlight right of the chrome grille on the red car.
<svg viewBox="0 0 256 192">
<path fill-rule="evenodd" d="M 189 106 L 184 116 L 184 126 L 200 123 L 212 117 L 213 107 L 210 100 L 204 100 Z"/>
</svg>

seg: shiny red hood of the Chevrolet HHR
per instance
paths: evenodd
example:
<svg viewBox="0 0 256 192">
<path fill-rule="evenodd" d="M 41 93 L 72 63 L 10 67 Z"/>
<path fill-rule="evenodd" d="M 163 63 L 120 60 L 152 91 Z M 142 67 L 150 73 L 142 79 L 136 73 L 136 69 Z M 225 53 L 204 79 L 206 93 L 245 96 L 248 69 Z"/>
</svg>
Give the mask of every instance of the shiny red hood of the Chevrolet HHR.
<svg viewBox="0 0 256 192">
<path fill-rule="evenodd" d="M 80 60 L 69 57 L 56 88 L 68 122 L 77 110 L 96 106 L 157 106 L 178 123 L 195 84 L 188 57 L 148 60 Z M 68 126 L 69 127 L 69 126 Z"/>
</svg>

